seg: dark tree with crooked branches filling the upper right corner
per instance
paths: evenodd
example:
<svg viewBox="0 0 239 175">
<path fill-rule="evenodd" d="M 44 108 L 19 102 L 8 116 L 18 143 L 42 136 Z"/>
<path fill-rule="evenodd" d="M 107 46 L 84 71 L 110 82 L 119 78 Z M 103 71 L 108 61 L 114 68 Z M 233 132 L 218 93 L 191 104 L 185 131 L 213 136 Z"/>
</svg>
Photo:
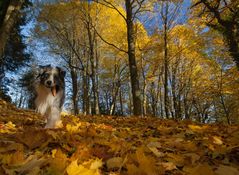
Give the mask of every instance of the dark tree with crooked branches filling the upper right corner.
<svg viewBox="0 0 239 175">
<path fill-rule="evenodd" d="M 225 38 L 229 52 L 239 69 L 239 1 L 195 0 L 191 8 L 198 8 L 199 16 Z"/>
</svg>

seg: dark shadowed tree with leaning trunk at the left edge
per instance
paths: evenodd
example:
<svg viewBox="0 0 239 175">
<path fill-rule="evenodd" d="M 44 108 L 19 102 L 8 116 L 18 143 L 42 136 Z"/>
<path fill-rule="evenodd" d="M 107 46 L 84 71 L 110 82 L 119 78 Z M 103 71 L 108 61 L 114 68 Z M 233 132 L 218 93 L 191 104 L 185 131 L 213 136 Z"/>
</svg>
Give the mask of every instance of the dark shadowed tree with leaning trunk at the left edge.
<svg viewBox="0 0 239 175">
<path fill-rule="evenodd" d="M 17 71 L 30 60 L 30 54 L 25 50 L 24 36 L 21 34 L 21 26 L 26 24 L 26 14 L 20 13 L 20 9 L 25 8 L 29 3 L 28 1 L 20 2 L 7 3 L 4 1 L 0 4 L 2 20 L 0 25 L 0 84 L 1 94 L 5 95 L 8 91 L 6 86 L 9 84 L 5 73 Z"/>
</svg>

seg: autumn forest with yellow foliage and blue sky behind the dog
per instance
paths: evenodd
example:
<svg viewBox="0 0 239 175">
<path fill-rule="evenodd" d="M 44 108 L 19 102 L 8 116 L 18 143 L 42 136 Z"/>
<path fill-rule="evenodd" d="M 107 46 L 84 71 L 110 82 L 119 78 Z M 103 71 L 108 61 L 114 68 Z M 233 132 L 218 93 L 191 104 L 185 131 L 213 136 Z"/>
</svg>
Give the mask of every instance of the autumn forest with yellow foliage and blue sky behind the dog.
<svg viewBox="0 0 239 175">
<path fill-rule="evenodd" d="M 37 65 L 52 64 L 67 70 L 69 113 L 238 123 L 238 0 L 0 7 L 0 94 L 19 108 L 32 108 Z"/>
</svg>

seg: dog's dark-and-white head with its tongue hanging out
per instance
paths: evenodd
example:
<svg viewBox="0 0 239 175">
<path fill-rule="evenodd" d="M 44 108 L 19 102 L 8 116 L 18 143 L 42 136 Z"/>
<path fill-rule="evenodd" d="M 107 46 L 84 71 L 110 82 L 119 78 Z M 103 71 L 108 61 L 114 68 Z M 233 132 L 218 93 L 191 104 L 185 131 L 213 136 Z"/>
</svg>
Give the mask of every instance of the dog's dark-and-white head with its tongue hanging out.
<svg viewBox="0 0 239 175">
<path fill-rule="evenodd" d="M 51 67 L 51 65 L 39 66 L 40 83 L 46 88 L 51 89 L 52 95 L 64 88 L 64 78 L 66 72 L 60 67 Z"/>
</svg>

